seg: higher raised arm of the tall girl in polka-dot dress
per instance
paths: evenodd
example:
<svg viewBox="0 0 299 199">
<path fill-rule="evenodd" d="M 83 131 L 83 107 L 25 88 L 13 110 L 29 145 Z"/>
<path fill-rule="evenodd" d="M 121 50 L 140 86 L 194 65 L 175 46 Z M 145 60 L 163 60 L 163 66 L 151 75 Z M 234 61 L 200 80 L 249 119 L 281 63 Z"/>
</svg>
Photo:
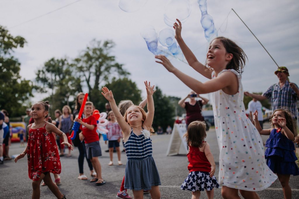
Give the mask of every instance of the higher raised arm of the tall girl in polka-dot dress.
<svg viewBox="0 0 299 199">
<path fill-rule="evenodd" d="M 177 22 L 173 24 L 173 28 L 176 30 L 175 38 L 176 38 L 176 41 L 178 41 L 178 44 L 181 47 L 181 50 L 182 50 L 188 64 L 194 70 L 196 70 L 197 72 L 199 72 L 206 78 L 211 79 L 212 70 L 208 69 L 208 67 L 206 67 L 205 65 L 203 65 L 196 59 L 195 55 L 192 53 L 190 48 L 187 46 L 187 44 L 184 42 L 183 38 L 181 37 L 181 31 L 182 31 L 181 21 L 179 19 L 176 19 L 176 20 L 178 21 L 179 24 Z"/>
</svg>

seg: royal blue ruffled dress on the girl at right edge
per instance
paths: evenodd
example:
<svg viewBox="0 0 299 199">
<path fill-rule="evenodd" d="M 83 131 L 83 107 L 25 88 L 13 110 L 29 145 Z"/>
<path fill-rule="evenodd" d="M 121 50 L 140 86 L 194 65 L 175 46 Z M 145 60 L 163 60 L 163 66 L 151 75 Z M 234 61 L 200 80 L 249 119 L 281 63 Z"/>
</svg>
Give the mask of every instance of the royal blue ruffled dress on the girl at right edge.
<svg viewBox="0 0 299 199">
<path fill-rule="evenodd" d="M 278 174 L 299 175 L 299 169 L 295 161 L 294 143 L 281 134 L 278 129 L 273 129 L 266 142 L 265 158 L 269 168 Z"/>
</svg>

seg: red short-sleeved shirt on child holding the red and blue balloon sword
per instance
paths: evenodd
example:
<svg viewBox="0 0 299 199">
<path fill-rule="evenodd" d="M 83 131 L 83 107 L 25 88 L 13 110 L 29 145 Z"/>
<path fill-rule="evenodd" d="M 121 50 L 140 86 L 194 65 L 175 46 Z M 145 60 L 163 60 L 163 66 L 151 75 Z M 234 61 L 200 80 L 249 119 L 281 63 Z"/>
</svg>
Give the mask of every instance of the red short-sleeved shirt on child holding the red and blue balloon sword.
<svg viewBox="0 0 299 199">
<path fill-rule="evenodd" d="M 94 125 L 94 129 L 90 130 L 86 128 L 83 125 L 80 125 L 80 129 L 82 130 L 82 133 L 84 135 L 84 141 L 86 144 L 91 143 L 91 142 L 96 142 L 99 141 L 99 135 L 97 134 L 97 120 L 95 119 L 94 116 L 89 116 L 88 118 L 83 118 L 83 122 Z"/>
</svg>

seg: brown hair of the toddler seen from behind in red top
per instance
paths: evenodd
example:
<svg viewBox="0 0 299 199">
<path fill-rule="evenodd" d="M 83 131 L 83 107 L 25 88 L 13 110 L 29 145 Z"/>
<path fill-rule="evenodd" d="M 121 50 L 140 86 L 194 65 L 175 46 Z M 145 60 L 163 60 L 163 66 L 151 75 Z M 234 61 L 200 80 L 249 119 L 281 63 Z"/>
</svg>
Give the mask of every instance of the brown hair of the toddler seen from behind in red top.
<svg viewBox="0 0 299 199">
<path fill-rule="evenodd" d="M 193 121 L 188 125 L 184 134 L 188 146 L 202 147 L 202 141 L 207 137 L 206 123 L 203 121 Z"/>
</svg>

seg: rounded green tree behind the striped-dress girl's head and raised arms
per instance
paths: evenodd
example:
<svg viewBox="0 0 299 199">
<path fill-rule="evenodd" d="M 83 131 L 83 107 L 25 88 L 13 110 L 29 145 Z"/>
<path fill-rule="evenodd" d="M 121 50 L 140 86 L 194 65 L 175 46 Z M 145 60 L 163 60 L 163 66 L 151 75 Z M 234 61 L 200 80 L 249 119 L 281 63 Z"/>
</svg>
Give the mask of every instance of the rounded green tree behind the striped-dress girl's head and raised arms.
<svg viewBox="0 0 299 199">
<path fill-rule="evenodd" d="M 111 82 L 108 82 L 105 87 L 109 90 L 112 90 L 113 97 L 115 99 L 116 104 L 118 104 L 121 100 L 131 100 L 134 104 L 139 104 L 142 100 L 141 98 L 141 90 L 138 89 L 135 82 L 130 80 L 129 78 L 112 78 Z M 102 94 L 100 94 L 100 105 L 96 108 L 100 110 L 105 110 L 105 104 L 108 101 L 104 98 Z"/>
</svg>

